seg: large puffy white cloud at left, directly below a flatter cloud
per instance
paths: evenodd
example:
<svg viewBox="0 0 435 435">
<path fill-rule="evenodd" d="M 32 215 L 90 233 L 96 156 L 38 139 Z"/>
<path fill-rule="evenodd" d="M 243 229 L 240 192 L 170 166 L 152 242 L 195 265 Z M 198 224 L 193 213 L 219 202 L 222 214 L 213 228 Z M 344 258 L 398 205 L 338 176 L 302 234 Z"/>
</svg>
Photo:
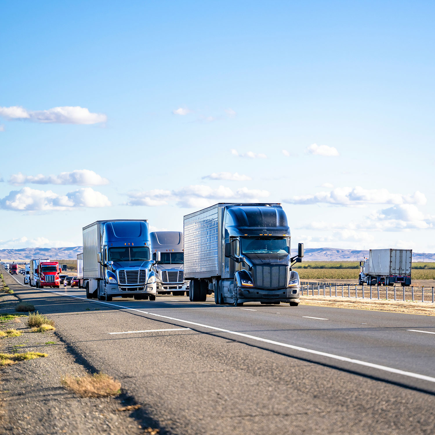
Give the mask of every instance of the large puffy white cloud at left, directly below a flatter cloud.
<svg viewBox="0 0 435 435">
<path fill-rule="evenodd" d="M 23 187 L 19 191 L 11 191 L 9 195 L 0 199 L 0 208 L 15 211 L 67 210 L 74 207 L 107 207 L 110 205 L 106 195 L 90 187 L 68 192 L 66 195 Z"/>
</svg>

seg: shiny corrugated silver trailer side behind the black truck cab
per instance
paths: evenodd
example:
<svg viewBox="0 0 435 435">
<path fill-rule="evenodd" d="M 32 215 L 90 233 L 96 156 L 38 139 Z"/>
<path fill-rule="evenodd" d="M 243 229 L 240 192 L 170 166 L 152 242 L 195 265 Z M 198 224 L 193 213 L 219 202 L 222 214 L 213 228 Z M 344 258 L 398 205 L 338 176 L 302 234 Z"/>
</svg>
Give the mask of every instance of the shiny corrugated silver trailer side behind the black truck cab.
<svg viewBox="0 0 435 435">
<path fill-rule="evenodd" d="M 212 207 L 184 216 L 184 277 L 220 275 L 222 207 Z"/>
</svg>

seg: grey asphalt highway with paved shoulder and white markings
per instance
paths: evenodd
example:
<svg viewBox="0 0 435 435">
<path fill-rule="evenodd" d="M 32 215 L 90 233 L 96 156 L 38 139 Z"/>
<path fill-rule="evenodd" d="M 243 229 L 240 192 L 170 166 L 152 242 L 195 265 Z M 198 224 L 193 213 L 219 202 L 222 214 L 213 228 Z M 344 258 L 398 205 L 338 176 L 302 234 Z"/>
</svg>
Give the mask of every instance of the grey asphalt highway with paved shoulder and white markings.
<svg viewBox="0 0 435 435">
<path fill-rule="evenodd" d="M 14 291 L 175 433 L 435 431 L 433 316 Z"/>
</svg>

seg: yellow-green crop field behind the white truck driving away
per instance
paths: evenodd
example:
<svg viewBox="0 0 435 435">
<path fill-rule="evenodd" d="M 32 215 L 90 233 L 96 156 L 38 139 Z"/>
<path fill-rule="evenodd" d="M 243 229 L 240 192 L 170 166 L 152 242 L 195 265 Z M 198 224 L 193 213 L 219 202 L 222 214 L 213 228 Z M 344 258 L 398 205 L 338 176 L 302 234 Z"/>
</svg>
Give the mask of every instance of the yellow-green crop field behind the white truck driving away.
<svg viewBox="0 0 435 435">
<path fill-rule="evenodd" d="M 358 279 L 359 261 L 305 261 L 293 269 L 301 279 Z M 435 279 L 435 263 L 412 264 L 411 278 Z"/>
</svg>

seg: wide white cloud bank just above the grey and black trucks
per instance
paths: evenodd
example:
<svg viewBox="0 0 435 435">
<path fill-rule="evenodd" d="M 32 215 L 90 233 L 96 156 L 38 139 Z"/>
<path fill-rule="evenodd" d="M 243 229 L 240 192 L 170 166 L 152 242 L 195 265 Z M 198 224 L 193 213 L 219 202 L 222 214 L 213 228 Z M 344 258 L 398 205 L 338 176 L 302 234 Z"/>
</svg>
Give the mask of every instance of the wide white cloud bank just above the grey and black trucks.
<svg viewBox="0 0 435 435">
<path fill-rule="evenodd" d="M 128 194 L 127 205 L 146 205 L 149 207 L 175 204 L 178 207 L 208 207 L 219 201 L 259 201 L 269 196 L 269 192 L 262 189 L 248 189 L 241 187 L 231 190 L 229 187 L 216 188 L 196 184 L 182 187 L 178 190 L 152 190 L 144 192 L 131 192 Z"/>
</svg>

